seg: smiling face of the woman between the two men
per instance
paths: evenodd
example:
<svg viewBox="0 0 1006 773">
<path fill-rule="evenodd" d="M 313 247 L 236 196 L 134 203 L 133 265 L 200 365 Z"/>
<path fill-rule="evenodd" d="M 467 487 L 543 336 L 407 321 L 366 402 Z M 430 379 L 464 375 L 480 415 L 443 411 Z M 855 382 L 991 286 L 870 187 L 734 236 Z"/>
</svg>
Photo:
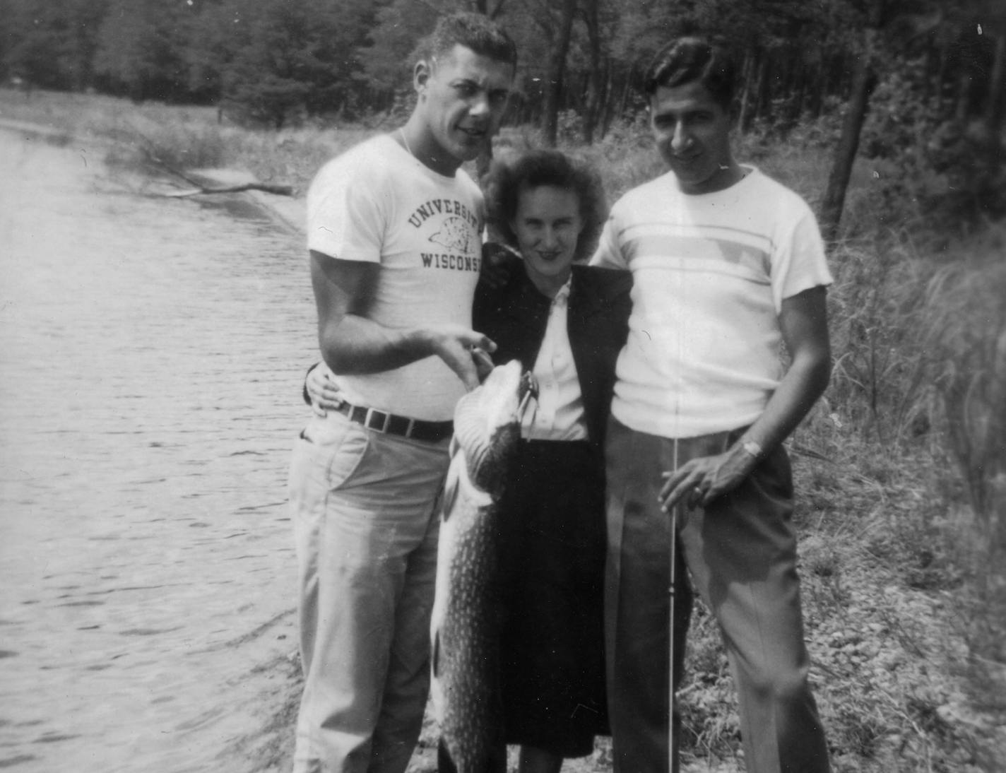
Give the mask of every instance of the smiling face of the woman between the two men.
<svg viewBox="0 0 1006 773">
<path fill-rule="evenodd" d="M 561 287 L 569 278 L 569 266 L 583 229 L 579 196 L 554 185 L 522 187 L 510 227 L 531 279 L 554 285 L 556 290 Z"/>
</svg>

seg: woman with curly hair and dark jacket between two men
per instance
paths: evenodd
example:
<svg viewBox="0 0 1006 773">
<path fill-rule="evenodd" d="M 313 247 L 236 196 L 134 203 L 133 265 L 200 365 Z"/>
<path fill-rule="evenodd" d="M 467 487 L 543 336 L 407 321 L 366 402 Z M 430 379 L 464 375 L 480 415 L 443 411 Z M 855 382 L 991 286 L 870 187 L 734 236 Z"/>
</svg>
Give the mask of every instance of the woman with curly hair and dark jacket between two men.
<svg viewBox="0 0 1006 773">
<path fill-rule="evenodd" d="M 476 289 L 473 327 L 496 342 L 496 363 L 519 359 L 539 390 L 501 508 L 504 729 L 521 773 L 555 773 L 610 733 L 604 440 L 632 282 L 578 263 L 608 214 L 584 164 L 531 151 L 496 162 L 484 189 L 490 229 L 516 255 L 502 286 Z M 682 598 L 682 635 L 689 608 Z"/>
</svg>

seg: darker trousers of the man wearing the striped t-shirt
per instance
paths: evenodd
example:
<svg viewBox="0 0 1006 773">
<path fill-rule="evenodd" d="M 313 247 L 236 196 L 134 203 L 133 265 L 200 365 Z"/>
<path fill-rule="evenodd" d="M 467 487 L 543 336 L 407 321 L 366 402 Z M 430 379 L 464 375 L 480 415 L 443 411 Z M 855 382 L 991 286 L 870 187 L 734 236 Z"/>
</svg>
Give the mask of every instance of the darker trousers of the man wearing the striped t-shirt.
<svg viewBox="0 0 1006 773">
<path fill-rule="evenodd" d="M 721 453 L 740 434 L 678 440 L 677 465 Z M 670 515 L 661 511 L 657 494 L 661 473 L 674 469 L 675 441 L 612 419 L 606 459 L 605 615 L 615 770 L 660 773 L 669 767 Z M 708 508 L 679 509 L 679 558 L 719 623 L 749 773 L 829 770 L 807 682 L 792 501 L 790 463 L 779 448 Z"/>
</svg>

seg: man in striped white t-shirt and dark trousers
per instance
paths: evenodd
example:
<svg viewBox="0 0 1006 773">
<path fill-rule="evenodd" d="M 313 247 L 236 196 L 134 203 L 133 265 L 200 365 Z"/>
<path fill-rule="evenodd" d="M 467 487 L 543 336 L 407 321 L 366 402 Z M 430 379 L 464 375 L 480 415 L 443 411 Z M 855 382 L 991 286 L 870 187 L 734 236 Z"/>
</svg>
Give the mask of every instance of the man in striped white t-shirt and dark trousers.
<svg viewBox="0 0 1006 773">
<path fill-rule="evenodd" d="M 658 53 L 645 92 L 670 172 L 615 204 L 592 261 L 633 274 L 606 444 L 620 773 L 666 771 L 669 756 L 677 767 L 677 744 L 668 750 L 672 544 L 722 630 L 747 770 L 829 769 L 807 682 L 782 443 L 828 383 L 831 276 L 803 199 L 733 159 L 734 72 L 701 38 Z"/>
</svg>

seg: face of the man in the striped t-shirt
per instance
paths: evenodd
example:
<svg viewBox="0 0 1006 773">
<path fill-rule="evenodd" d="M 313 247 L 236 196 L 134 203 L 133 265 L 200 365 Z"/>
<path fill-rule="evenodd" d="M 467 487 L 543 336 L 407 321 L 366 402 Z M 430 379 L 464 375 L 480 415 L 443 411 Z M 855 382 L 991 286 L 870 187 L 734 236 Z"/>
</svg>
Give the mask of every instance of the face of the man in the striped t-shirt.
<svg viewBox="0 0 1006 773">
<path fill-rule="evenodd" d="M 685 193 L 712 193 L 735 181 L 731 125 L 729 112 L 698 81 L 659 87 L 650 99 L 654 139 Z"/>
</svg>

